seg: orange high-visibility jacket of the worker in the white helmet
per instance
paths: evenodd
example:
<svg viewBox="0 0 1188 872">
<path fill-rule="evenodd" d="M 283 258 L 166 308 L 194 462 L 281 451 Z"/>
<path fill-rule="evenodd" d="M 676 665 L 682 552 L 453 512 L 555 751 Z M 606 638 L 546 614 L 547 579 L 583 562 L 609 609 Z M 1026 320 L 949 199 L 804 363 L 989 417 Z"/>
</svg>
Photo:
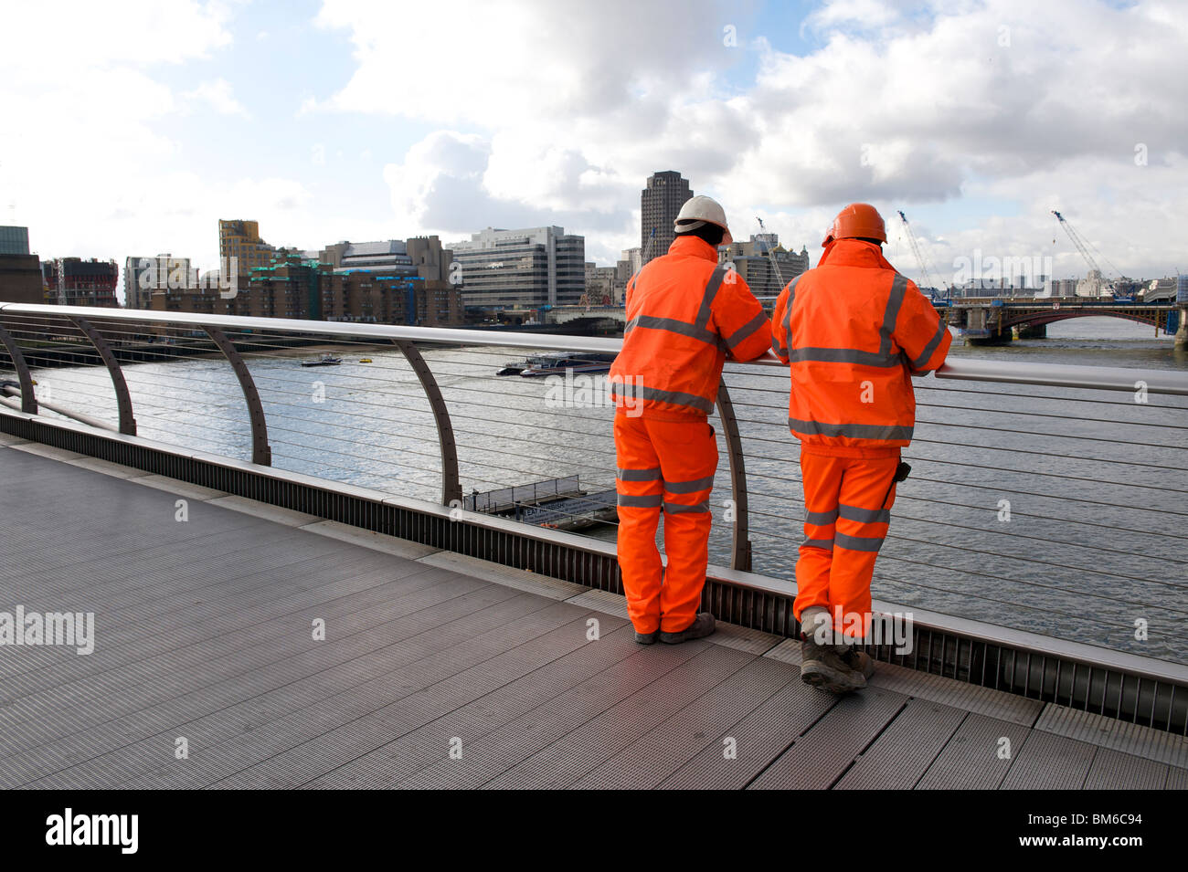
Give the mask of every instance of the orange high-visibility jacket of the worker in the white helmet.
<svg viewBox="0 0 1188 872">
<path fill-rule="evenodd" d="M 771 322 L 751 288 L 696 236 L 678 236 L 628 282 L 626 314 L 608 381 L 619 413 L 643 418 L 704 418 L 726 352 L 753 361 L 771 343 Z"/>
</svg>

